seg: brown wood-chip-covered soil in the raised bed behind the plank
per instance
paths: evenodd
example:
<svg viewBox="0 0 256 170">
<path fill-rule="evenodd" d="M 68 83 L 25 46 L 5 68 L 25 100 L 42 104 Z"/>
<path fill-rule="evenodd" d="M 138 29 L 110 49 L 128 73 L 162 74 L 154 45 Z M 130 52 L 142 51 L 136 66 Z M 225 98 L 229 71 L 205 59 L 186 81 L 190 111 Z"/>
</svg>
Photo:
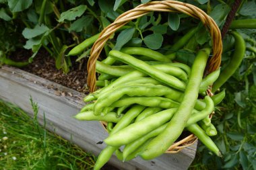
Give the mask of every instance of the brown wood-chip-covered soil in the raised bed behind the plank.
<svg viewBox="0 0 256 170">
<path fill-rule="evenodd" d="M 15 58 L 12 58 L 13 60 L 28 60 L 28 58 L 32 56 L 32 52 L 28 50 L 18 50 L 13 56 L 15 56 Z M 71 59 L 72 67 L 69 73 L 65 74 L 62 70 L 56 69 L 55 59 L 49 56 L 46 50 L 40 50 L 38 54 L 36 54 L 33 62 L 21 69 L 81 93 L 88 93 L 88 89 L 86 88 L 86 62 L 80 64 L 79 62 L 75 62 L 75 57 Z"/>
</svg>

